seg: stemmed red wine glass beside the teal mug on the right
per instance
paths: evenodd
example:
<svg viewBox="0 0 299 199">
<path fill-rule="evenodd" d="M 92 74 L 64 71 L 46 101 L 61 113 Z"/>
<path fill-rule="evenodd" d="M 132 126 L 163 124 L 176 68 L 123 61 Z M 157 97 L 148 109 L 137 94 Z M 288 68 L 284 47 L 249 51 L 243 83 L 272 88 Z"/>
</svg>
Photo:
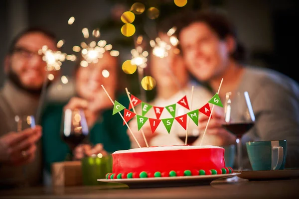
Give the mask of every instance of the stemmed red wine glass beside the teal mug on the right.
<svg viewBox="0 0 299 199">
<path fill-rule="evenodd" d="M 248 92 L 226 93 L 224 117 L 225 122 L 222 126 L 237 136 L 237 164 L 238 170 L 242 171 L 241 138 L 255 124 L 255 115 Z"/>
</svg>

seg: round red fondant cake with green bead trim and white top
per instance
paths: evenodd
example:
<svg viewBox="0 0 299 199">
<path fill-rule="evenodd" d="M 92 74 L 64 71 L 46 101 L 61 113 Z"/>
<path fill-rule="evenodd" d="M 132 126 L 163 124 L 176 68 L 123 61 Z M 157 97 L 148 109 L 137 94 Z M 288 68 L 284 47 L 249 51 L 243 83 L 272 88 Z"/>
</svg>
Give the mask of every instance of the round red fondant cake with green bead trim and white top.
<svg viewBox="0 0 299 199">
<path fill-rule="evenodd" d="M 116 151 L 107 178 L 147 178 L 232 173 L 216 146 L 160 146 Z M 113 176 L 113 178 L 111 178 Z"/>
</svg>

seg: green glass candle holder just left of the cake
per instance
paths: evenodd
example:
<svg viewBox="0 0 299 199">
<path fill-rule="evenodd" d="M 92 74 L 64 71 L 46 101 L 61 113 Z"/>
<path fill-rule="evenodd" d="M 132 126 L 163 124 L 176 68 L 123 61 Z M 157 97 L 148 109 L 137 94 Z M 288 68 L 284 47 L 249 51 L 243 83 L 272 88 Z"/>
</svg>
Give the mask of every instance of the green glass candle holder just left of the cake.
<svg viewBox="0 0 299 199">
<path fill-rule="evenodd" d="M 102 154 L 84 157 L 81 159 L 83 185 L 108 185 L 98 182 L 98 179 L 106 178 L 107 173 L 112 173 L 112 156 Z"/>
</svg>

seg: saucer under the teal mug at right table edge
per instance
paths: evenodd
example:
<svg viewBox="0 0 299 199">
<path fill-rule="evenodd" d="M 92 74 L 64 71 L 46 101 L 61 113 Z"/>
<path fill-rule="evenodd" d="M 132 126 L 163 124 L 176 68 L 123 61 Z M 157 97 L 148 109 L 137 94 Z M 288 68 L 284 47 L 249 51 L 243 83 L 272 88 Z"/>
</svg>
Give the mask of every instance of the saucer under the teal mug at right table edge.
<svg viewBox="0 0 299 199">
<path fill-rule="evenodd" d="M 270 180 L 270 179 L 287 179 L 298 178 L 299 169 L 284 169 L 275 171 L 238 171 L 241 174 L 239 178 L 248 180 Z"/>
</svg>

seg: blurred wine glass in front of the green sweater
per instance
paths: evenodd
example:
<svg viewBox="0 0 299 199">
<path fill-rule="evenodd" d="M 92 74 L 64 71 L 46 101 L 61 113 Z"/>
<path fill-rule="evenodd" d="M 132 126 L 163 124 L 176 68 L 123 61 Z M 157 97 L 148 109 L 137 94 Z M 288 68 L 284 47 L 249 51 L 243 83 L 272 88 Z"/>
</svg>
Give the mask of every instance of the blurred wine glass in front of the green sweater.
<svg viewBox="0 0 299 199">
<path fill-rule="evenodd" d="M 88 124 L 82 109 L 66 109 L 63 112 L 61 138 L 73 151 L 89 135 Z"/>
</svg>

